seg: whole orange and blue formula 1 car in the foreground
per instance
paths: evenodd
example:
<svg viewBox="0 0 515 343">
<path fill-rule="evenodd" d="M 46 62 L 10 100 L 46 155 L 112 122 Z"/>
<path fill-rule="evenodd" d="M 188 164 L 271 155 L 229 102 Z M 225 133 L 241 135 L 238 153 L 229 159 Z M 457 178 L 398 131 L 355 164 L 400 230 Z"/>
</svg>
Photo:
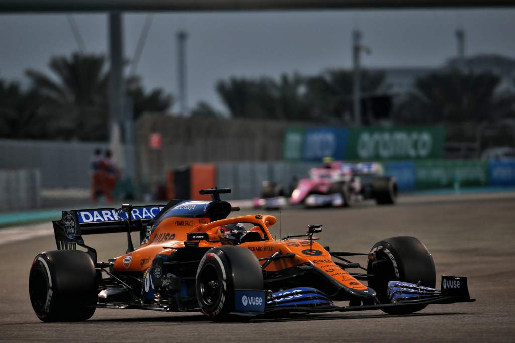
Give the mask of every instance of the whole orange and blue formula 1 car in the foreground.
<svg viewBox="0 0 515 343">
<path fill-rule="evenodd" d="M 414 237 L 384 239 L 364 253 L 320 245 L 314 237 L 320 225 L 274 240 L 273 216 L 227 218 L 238 210 L 220 200 L 229 192 L 200 191 L 211 194 L 211 202 L 63 211 L 53 222 L 58 250 L 37 255 L 30 269 L 36 315 L 47 322 L 79 321 L 108 308 L 201 311 L 232 320 L 274 312 L 407 314 L 431 303 L 474 301 L 466 277 L 442 276 L 441 290 L 434 288 L 433 258 Z M 131 231 L 140 232 L 136 249 Z M 108 232 L 126 232 L 127 251 L 99 262 L 83 237 Z M 356 255 L 368 257 L 366 267 L 347 259 Z M 362 272 L 350 271 L 357 268 Z M 348 305 L 335 305 L 340 300 Z"/>
</svg>

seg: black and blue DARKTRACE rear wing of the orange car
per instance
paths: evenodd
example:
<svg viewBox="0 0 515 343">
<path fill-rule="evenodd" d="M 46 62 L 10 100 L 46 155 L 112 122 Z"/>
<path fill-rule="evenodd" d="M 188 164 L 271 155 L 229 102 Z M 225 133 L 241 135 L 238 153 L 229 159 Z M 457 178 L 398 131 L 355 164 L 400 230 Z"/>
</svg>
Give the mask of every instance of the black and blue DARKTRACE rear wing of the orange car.
<svg viewBox="0 0 515 343">
<path fill-rule="evenodd" d="M 148 240 L 152 221 L 159 217 L 165 205 L 132 206 L 122 208 L 96 208 L 63 211 L 59 221 L 53 221 L 58 249 L 77 249 L 77 245 L 88 249 L 96 263 L 96 251 L 84 244 L 82 235 L 96 233 L 127 232 L 127 250 L 132 251 L 130 232 L 140 231 L 141 240 Z M 143 236 L 145 234 L 145 236 Z"/>
</svg>

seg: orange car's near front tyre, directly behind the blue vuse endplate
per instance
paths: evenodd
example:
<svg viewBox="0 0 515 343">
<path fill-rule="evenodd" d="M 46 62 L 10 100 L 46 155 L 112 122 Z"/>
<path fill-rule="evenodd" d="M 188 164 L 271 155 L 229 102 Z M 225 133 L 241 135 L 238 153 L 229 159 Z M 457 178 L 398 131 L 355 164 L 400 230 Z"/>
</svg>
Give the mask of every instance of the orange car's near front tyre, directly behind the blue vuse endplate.
<svg viewBox="0 0 515 343">
<path fill-rule="evenodd" d="M 249 249 L 222 245 L 209 249 L 197 269 L 195 291 L 200 310 L 212 320 L 234 320 L 235 290 L 263 290 L 258 259 Z"/>
</svg>

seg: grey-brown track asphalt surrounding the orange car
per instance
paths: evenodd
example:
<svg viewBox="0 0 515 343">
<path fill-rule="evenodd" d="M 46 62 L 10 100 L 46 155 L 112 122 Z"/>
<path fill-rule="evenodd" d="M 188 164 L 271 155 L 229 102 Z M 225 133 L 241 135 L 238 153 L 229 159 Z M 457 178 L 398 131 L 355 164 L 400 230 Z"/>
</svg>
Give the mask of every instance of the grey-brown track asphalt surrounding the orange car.
<svg viewBox="0 0 515 343">
<path fill-rule="evenodd" d="M 255 212 L 255 211 L 250 211 Z M 249 211 L 235 213 L 248 214 Z M 416 236 L 432 252 L 440 275 L 468 276 L 474 303 L 430 305 L 420 313 L 329 313 L 294 318 L 213 323 L 200 314 L 98 309 L 81 323 L 42 323 L 28 298 L 28 272 L 40 251 L 56 248 L 51 224 L 0 230 L 0 340 L 2 341 L 513 341 L 515 337 L 515 194 L 404 198 L 397 206 L 288 209 L 277 237 L 323 224 L 332 250 L 369 251 L 386 237 Z M 280 232 L 281 230 L 281 232 Z M 36 236 L 35 236 L 36 235 Z M 135 235 L 134 235 L 134 238 Z M 87 236 L 100 260 L 123 254 L 124 234 Z M 364 262 L 356 259 L 356 262 Z"/>
</svg>

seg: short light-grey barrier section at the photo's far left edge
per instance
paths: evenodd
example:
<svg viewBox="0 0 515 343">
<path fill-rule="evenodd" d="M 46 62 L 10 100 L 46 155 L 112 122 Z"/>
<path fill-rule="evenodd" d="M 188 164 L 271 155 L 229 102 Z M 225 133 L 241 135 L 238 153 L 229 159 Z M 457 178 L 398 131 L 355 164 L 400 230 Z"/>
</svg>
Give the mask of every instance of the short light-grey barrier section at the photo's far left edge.
<svg viewBox="0 0 515 343">
<path fill-rule="evenodd" d="M 0 211 L 41 206 L 39 169 L 0 170 Z"/>
</svg>

